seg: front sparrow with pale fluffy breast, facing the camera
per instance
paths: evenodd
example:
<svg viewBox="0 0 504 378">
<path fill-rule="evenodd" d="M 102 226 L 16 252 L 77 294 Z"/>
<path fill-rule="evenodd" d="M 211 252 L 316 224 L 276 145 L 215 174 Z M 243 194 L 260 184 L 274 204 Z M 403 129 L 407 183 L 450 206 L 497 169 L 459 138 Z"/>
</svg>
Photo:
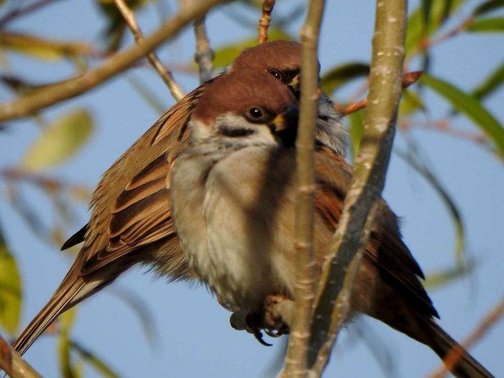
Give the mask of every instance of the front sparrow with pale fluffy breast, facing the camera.
<svg viewBox="0 0 504 378">
<path fill-rule="evenodd" d="M 293 299 L 298 102 L 263 71 L 232 72 L 209 84 L 195 107 L 187 147 L 171 163 L 170 203 L 187 263 L 216 295 L 249 313 L 269 296 Z M 352 166 L 321 142 L 315 152 L 313 253 L 317 278 L 343 210 Z M 153 170 L 159 169 L 158 167 Z M 458 377 L 491 377 L 435 322 L 423 273 L 382 199 L 350 299 L 364 313 L 461 359 Z M 347 319 L 348 320 L 348 319 Z"/>
</svg>

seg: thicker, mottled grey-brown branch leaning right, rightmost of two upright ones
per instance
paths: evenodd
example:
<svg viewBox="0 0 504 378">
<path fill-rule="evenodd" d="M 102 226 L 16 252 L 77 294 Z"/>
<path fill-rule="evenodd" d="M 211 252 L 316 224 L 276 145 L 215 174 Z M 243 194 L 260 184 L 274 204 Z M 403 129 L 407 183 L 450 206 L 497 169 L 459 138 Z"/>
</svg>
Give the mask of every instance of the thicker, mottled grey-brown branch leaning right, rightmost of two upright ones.
<svg viewBox="0 0 504 378">
<path fill-rule="evenodd" d="M 308 367 L 320 376 L 348 316 L 350 294 L 385 183 L 401 96 L 407 1 L 376 1 L 364 129 L 331 256 L 314 306 Z"/>
</svg>

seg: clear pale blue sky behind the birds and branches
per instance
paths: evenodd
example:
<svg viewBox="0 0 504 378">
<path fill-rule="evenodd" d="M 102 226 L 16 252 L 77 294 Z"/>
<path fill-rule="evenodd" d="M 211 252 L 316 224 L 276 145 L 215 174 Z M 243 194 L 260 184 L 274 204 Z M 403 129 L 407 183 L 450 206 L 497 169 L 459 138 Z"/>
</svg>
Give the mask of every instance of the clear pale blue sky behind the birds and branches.
<svg viewBox="0 0 504 378">
<path fill-rule="evenodd" d="M 273 17 L 286 13 L 292 2 L 280 1 Z M 368 61 L 373 28 L 374 2 L 327 2 L 322 27 L 320 61 L 322 71 L 347 61 Z M 173 4 L 171 10 L 174 9 Z M 461 22 L 479 2 L 468 1 L 453 25 Z M 417 2 L 410 3 L 414 9 Z M 233 5 L 227 10 L 242 11 Z M 243 12 L 241 12 L 243 13 Z M 226 15 L 227 14 L 227 15 Z M 214 11 L 207 30 L 212 46 L 238 41 L 255 35 L 230 19 L 229 12 Z M 258 16 L 259 17 L 259 16 Z M 277 16 L 278 17 L 278 16 Z M 256 17 L 250 17 L 255 19 Z M 139 22 L 144 32 L 159 25 L 155 7 L 148 7 Z M 289 27 L 296 35 L 302 19 Z M 86 39 L 97 42 L 104 20 L 92 2 L 69 0 L 33 16 L 10 24 L 12 30 L 30 32 L 49 38 Z M 132 43 L 131 39 L 128 43 Z M 464 90 L 474 88 L 504 58 L 500 35 L 461 35 L 433 49 L 431 74 L 456 83 Z M 190 29 L 159 50 L 169 64 L 185 63 L 194 54 L 194 36 Z M 11 66 L 26 79 L 58 80 L 73 74 L 72 66 L 37 63 L 21 55 L 10 56 Z M 162 81 L 150 69 L 132 70 L 158 95 L 166 108 L 174 101 Z M 185 92 L 198 85 L 197 77 L 175 73 Z M 341 94 L 345 98 L 351 91 Z M 2 101 L 7 94 L 2 93 Z M 439 97 L 426 96 L 431 119 L 438 119 L 449 107 Z M 492 114 L 504 122 L 504 91 L 500 89 L 485 100 Z M 51 120 L 72 108 L 92 109 L 96 129 L 85 148 L 67 164 L 48 175 L 85 183 L 93 187 L 100 175 L 159 117 L 135 92 L 124 77 L 109 81 L 77 99 L 44 112 Z M 461 130 L 477 132 L 463 116 L 453 124 Z M 0 135 L 2 167 L 15 165 L 37 137 L 37 128 L 29 120 L 12 123 Z M 455 339 L 461 340 L 478 324 L 504 293 L 502 266 L 504 259 L 504 169 L 502 162 L 480 146 L 467 140 L 435 131 L 413 130 L 411 136 L 421 146 L 424 157 L 462 211 L 467 229 L 467 253 L 479 262 L 470 279 L 462 279 L 431 291 L 440 316 L 440 324 Z M 405 148 L 404 138 L 397 135 L 396 148 Z M 50 223 L 56 214 L 38 191 L 27 190 L 31 202 Z M 0 201 L 0 223 L 15 254 L 25 285 L 22 325 L 28 324 L 45 304 L 64 277 L 71 260 L 61 257 L 54 246 L 38 239 L 5 201 Z M 403 217 L 403 234 L 424 272 L 447 269 L 454 264 L 455 230 L 447 209 L 437 194 L 418 174 L 393 155 L 384 197 L 391 208 Z M 87 221 L 85 206 L 78 210 L 77 231 Z M 228 323 L 229 313 L 222 309 L 205 288 L 187 288 L 184 284 L 166 284 L 153 280 L 142 269 L 131 269 L 110 288 L 85 301 L 78 309 L 72 337 L 102 357 L 122 376 L 267 376 L 267 368 L 282 352 L 283 342 L 268 340 L 274 347 L 260 345 L 252 336 L 234 331 Z M 142 298 L 152 312 L 159 343 L 152 347 L 143 335 L 136 314 L 117 295 L 127 288 Z M 437 356 L 427 347 L 408 339 L 371 319 L 365 324 L 393 353 L 397 376 L 422 377 L 439 365 Z M 362 341 L 353 337 L 349 325 L 335 349 L 327 376 L 385 376 Z M 366 329 L 367 329 L 366 328 Z M 369 331 L 370 332 L 370 331 Z M 496 376 L 504 376 L 502 340 L 504 322 L 498 323 L 471 353 Z M 378 348 L 379 352 L 385 350 Z M 57 376 L 58 363 L 53 337 L 41 337 L 26 353 L 26 359 L 44 376 Z M 86 376 L 96 376 L 86 368 Z M 139 373 L 141 372 L 141 373 Z"/>
</svg>

